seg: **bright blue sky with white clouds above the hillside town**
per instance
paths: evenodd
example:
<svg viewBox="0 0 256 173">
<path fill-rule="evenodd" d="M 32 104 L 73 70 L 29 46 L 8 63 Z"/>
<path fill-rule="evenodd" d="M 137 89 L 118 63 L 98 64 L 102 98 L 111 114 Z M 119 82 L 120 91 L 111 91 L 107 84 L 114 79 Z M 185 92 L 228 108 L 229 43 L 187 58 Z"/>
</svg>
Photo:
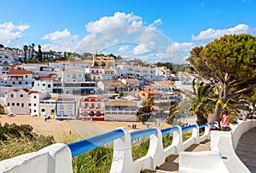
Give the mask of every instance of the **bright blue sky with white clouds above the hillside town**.
<svg viewBox="0 0 256 173">
<path fill-rule="evenodd" d="M 255 9 L 253 0 L 9 0 L 1 2 L 0 43 L 184 62 L 224 34 L 256 35 Z"/>
</svg>

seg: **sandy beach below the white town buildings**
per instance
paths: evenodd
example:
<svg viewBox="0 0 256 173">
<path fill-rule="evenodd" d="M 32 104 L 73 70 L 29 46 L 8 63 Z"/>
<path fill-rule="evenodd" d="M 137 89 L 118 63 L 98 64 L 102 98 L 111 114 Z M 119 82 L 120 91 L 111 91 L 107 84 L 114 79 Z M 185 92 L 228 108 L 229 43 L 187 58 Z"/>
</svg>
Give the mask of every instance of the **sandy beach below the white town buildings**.
<svg viewBox="0 0 256 173">
<path fill-rule="evenodd" d="M 44 121 L 42 117 L 32 117 L 31 115 L 16 115 L 9 117 L 7 115 L 0 115 L 1 124 L 15 123 L 15 124 L 30 124 L 33 131 L 38 135 L 54 136 L 56 142 L 69 143 L 79 141 L 84 138 L 96 136 L 110 130 L 115 130 L 119 127 L 128 128 L 128 124 L 137 124 L 136 129 L 128 128 L 129 130 L 142 130 L 148 127 L 157 127 L 164 129 L 170 127 L 169 124 L 154 124 L 142 122 L 113 122 L 113 121 L 81 121 L 81 120 L 64 120 L 59 121 L 55 119 L 48 119 Z M 147 125 L 150 124 L 150 125 Z"/>
</svg>

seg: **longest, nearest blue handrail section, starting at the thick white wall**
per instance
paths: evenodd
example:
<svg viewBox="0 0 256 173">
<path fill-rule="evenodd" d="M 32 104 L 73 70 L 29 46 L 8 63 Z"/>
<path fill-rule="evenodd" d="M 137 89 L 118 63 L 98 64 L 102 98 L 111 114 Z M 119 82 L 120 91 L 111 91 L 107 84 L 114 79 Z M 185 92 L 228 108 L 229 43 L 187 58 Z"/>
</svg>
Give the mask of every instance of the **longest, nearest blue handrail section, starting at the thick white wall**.
<svg viewBox="0 0 256 173">
<path fill-rule="evenodd" d="M 70 148 L 72 157 L 77 156 L 81 153 L 88 152 L 96 147 L 100 147 L 110 141 L 116 140 L 124 136 L 124 131 L 121 129 L 109 131 L 99 136 L 93 136 L 82 141 L 75 141 L 67 144 Z"/>
</svg>

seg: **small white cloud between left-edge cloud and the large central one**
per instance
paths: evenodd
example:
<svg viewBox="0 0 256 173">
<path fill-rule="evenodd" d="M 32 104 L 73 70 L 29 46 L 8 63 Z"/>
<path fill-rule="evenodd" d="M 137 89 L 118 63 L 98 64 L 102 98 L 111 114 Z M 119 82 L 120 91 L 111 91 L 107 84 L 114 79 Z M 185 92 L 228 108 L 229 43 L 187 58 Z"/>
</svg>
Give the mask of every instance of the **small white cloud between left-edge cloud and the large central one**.
<svg viewBox="0 0 256 173">
<path fill-rule="evenodd" d="M 72 47 L 77 43 L 78 36 L 72 35 L 67 29 L 60 31 L 51 32 L 42 39 L 49 39 L 53 43 L 60 44 L 61 46 Z"/>
</svg>

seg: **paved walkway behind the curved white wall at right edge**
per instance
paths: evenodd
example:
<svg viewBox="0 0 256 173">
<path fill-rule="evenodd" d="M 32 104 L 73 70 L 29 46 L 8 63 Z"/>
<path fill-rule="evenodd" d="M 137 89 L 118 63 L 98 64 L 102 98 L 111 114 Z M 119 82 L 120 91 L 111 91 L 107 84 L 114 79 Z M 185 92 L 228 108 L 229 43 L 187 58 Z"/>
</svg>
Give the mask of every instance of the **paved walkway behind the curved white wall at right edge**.
<svg viewBox="0 0 256 173">
<path fill-rule="evenodd" d="M 252 173 L 256 173 L 256 128 L 241 136 L 236 147 L 236 155 Z"/>
</svg>

